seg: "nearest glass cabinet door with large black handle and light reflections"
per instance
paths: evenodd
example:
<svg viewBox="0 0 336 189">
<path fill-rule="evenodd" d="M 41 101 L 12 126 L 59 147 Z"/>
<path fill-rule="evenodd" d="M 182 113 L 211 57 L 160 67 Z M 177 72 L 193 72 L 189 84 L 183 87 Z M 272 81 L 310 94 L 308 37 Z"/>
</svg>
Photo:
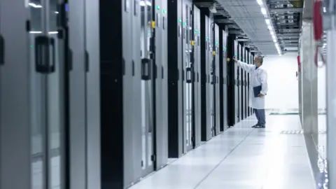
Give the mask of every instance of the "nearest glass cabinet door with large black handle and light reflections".
<svg viewBox="0 0 336 189">
<path fill-rule="evenodd" d="M 29 3 L 33 169 L 43 173 L 43 179 L 32 181 L 35 187 L 55 188 L 64 184 L 64 43 L 57 37 L 58 1 L 40 3 Z"/>
</svg>

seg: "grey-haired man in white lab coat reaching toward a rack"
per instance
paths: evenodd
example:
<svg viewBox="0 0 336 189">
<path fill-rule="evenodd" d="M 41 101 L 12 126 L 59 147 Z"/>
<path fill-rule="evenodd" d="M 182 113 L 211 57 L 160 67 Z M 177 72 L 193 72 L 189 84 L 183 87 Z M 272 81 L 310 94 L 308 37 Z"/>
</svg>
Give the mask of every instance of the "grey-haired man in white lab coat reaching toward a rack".
<svg viewBox="0 0 336 189">
<path fill-rule="evenodd" d="M 253 125 L 254 128 L 265 128 L 265 95 L 267 94 L 267 71 L 262 67 L 263 57 L 255 56 L 253 64 L 246 64 L 240 60 L 233 58 L 235 63 L 238 64 L 241 69 L 244 69 L 250 73 L 250 88 L 249 91 L 249 102 L 250 106 L 255 113 L 255 117 L 258 119 L 258 123 Z M 258 87 L 261 85 L 260 94 L 258 97 L 254 96 L 253 87 Z"/>
</svg>

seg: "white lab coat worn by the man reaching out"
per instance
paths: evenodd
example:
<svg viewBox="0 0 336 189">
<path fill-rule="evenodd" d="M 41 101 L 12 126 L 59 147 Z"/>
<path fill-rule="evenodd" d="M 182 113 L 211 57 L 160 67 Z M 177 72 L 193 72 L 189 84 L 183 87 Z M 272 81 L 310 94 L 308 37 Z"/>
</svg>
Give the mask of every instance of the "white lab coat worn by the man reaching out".
<svg viewBox="0 0 336 189">
<path fill-rule="evenodd" d="M 245 62 L 237 61 L 237 64 L 241 69 L 244 69 L 248 73 L 250 73 L 250 88 L 249 91 L 249 102 L 248 106 L 253 109 L 265 109 L 265 96 L 263 97 L 254 97 L 253 87 L 260 86 L 262 90 L 260 91 L 261 94 L 267 94 L 267 71 L 259 66 L 253 64 L 246 64 Z"/>
</svg>

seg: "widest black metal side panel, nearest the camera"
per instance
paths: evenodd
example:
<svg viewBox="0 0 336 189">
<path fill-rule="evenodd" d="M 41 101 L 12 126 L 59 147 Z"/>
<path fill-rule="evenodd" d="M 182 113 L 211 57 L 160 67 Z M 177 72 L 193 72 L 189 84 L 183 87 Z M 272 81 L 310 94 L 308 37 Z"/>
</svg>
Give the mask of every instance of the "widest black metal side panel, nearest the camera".
<svg viewBox="0 0 336 189">
<path fill-rule="evenodd" d="M 99 2 L 102 189 L 124 188 L 122 2 Z"/>
</svg>

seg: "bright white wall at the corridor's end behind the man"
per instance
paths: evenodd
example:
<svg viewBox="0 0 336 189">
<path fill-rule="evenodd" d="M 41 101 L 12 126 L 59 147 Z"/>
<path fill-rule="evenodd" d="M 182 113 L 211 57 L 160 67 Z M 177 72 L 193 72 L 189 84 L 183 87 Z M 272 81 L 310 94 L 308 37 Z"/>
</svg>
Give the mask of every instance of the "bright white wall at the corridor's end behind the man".
<svg viewBox="0 0 336 189">
<path fill-rule="evenodd" d="M 269 87 L 265 109 L 298 109 L 297 53 L 267 55 L 263 67 L 268 73 Z"/>
</svg>

